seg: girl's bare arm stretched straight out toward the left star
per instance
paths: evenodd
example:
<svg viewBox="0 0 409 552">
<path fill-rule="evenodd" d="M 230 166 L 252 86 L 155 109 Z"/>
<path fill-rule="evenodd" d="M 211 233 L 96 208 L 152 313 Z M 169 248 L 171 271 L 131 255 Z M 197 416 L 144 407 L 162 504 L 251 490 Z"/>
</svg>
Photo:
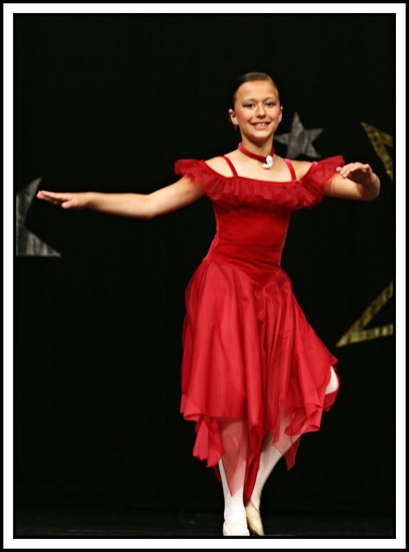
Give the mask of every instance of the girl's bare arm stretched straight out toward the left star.
<svg viewBox="0 0 409 552">
<path fill-rule="evenodd" d="M 91 209 L 122 217 L 152 219 L 185 207 L 203 195 L 204 190 L 199 184 L 183 177 L 150 194 L 59 193 L 40 190 L 37 198 L 64 209 Z"/>
</svg>

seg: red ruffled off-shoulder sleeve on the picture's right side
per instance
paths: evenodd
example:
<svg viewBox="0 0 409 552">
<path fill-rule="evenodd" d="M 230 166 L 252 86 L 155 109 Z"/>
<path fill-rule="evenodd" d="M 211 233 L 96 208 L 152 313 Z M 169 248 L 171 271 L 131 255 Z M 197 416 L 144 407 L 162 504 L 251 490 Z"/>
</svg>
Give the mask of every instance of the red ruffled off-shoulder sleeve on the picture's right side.
<svg viewBox="0 0 409 552">
<path fill-rule="evenodd" d="M 306 174 L 300 180 L 301 186 L 303 186 L 307 195 L 305 201 L 301 201 L 301 204 L 297 208 L 310 208 L 319 204 L 325 195 L 325 184 L 333 175 L 337 174 L 335 169 L 343 167 L 344 164 L 345 160 L 342 155 L 326 157 L 326 159 L 321 159 L 321 161 L 313 161 Z"/>
</svg>

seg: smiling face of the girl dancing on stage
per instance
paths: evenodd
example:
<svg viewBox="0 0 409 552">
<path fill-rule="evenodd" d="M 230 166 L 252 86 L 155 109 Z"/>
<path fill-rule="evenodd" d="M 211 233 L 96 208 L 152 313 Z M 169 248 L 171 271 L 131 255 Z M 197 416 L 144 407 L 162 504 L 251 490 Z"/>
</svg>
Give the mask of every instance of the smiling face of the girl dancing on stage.
<svg viewBox="0 0 409 552">
<path fill-rule="evenodd" d="M 237 89 L 235 109 L 229 109 L 229 115 L 232 123 L 239 125 L 241 135 L 259 141 L 275 133 L 283 108 L 271 81 L 249 81 Z"/>
</svg>

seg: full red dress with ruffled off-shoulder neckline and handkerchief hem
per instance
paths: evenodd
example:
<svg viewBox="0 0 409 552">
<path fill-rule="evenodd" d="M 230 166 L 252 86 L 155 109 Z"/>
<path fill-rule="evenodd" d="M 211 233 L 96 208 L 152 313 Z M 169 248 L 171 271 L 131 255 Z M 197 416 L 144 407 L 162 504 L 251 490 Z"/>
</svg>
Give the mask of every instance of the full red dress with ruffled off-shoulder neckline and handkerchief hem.
<svg viewBox="0 0 409 552">
<path fill-rule="evenodd" d="M 244 481 L 246 504 L 264 437 L 272 432 L 289 470 L 299 437 L 319 430 L 337 397 L 325 391 L 338 359 L 308 324 L 280 263 L 292 211 L 318 204 L 345 161 L 313 161 L 297 179 L 285 159 L 292 180 L 272 182 L 241 177 L 225 159 L 231 177 L 203 159 L 174 164 L 203 187 L 216 217 L 215 238 L 185 291 L 181 413 L 196 422 L 194 457 L 219 481 L 222 458 L 230 493 Z"/>
</svg>

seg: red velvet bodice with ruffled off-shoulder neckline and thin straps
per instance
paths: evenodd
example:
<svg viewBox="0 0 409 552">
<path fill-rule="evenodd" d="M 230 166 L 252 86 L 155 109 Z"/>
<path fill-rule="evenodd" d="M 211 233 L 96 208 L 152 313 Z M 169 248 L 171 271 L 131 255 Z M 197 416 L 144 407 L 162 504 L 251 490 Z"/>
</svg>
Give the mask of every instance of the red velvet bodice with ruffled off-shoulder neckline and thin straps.
<svg viewBox="0 0 409 552">
<path fill-rule="evenodd" d="M 241 177 L 230 159 L 232 176 L 216 172 L 203 159 L 179 159 L 175 172 L 186 175 L 205 190 L 212 201 L 216 234 L 205 259 L 242 268 L 252 279 L 265 282 L 281 268 L 281 254 L 293 210 L 311 208 L 325 193 L 324 185 L 343 166 L 341 155 L 313 161 L 297 179 L 285 159 L 292 180 L 264 181 Z"/>
</svg>

